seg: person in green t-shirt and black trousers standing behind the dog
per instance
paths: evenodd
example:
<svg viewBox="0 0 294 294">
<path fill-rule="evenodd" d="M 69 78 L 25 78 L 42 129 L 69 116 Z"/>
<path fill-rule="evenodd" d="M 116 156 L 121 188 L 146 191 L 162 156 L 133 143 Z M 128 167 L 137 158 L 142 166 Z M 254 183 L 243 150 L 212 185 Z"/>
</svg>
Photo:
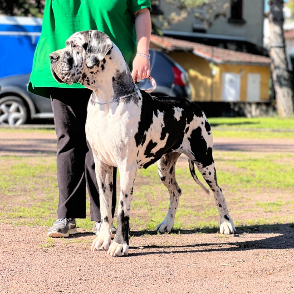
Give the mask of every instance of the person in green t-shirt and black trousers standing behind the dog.
<svg viewBox="0 0 294 294">
<path fill-rule="evenodd" d="M 81 84 L 56 82 L 49 54 L 65 47 L 75 32 L 99 30 L 121 50 L 134 81 L 150 75 L 150 0 L 47 0 L 28 91 L 51 99 L 57 136 L 57 220 L 50 237 L 77 233 L 76 218 L 86 218 L 86 186 L 93 232 L 101 226 L 99 191 L 91 147 L 86 140 L 87 105 L 92 91 Z M 140 53 L 140 54 L 137 54 Z M 113 171 L 112 217 L 116 207 L 116 168 Z M 112 225 L 113 233 L 115 228 Z"/>
</svg>

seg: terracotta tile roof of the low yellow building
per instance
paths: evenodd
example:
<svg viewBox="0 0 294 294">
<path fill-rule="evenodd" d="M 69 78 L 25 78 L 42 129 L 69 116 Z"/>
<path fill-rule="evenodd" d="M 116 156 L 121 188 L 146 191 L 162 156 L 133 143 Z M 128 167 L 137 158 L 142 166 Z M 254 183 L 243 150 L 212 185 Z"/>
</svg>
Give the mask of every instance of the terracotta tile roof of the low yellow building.
<svg viewBox="0 0 294 294">
<path fill-rule="evenodd" d="M 201 56 L 216 63 L 238 63 L 238 64 L 259 64 L 269 65 L 270 58 L 255 55 L 247 52 L 238 52 L 230 49 L 204 45 L 200 43 L 174 39 L 171 37 L 160 37 L 151 35 L 150 42 L 164 49 L 192 51 L 195 55 Z"/>
</svg>

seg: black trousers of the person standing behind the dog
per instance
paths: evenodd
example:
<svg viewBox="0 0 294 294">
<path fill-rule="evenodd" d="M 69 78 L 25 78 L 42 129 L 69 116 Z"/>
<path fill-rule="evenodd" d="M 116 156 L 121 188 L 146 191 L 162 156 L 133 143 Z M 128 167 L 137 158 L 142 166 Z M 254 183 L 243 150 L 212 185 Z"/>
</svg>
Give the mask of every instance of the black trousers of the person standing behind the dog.
<svg viewBox="0 0 294 294">
<path fill-rule="evenodd" d="M 57 135 L 58 218 L 86 218 L 86 186 L 91 220 L 101 221 L 93 153 L 86 140 L 89 89 L 50 88 Z M 112 217 L 116 207 L 116 168 L 113 170 Z"/>
</svg>

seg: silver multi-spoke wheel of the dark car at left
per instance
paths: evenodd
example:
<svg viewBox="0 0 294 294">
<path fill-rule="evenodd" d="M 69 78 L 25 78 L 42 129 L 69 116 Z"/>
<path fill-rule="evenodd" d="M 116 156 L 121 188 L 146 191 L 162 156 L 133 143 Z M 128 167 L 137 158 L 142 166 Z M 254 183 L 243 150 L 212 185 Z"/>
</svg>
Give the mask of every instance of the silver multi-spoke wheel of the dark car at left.
<svg viewBox="0 0 294 294">
<path fill-rule="evenodd" d="M 28 110 L 21 98 L 6 96 L 0 99 L 0 125 L 22 125 L 27 117 Z"/>
</svg>

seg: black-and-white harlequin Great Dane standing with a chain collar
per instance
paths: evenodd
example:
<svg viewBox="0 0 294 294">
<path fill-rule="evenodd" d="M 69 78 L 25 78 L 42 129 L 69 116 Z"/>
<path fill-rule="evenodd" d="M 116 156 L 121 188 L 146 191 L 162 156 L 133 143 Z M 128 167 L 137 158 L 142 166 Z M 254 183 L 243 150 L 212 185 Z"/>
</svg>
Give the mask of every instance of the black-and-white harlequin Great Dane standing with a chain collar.
<svg viewBox="0 0 294 294">
<path fill-rule="evenodd" d="M 194 163 L 213 191 L 220 213 L 220 233 L 235 232 L 225 198 L 216 180 L 212 134 L 202 110 L 185 99 L 157 99 L 138 90 L 123 55 L 111 39 L 96 30 L 77 32 L 64 49 L 50 54 L 51 71 L 58 82 L 80 82 L 93 90 L 88 104 L 86 136 L 91 145 L 100 191 L 101 229 L 92 250 L 108 250 L 112 256 L 128 255 L 131 199 L 138 169 L 157 161 L 168 188 L 170 206 L 158 232 L 171 232 L 181 189 L 175 164 L 181 153 Z M 81 97 L 82 99 L 82 97 Z M 111 243 L 111 194 L 113 166 L 120 172 L 121 193 L 117 232 Z"/>
</svg>

